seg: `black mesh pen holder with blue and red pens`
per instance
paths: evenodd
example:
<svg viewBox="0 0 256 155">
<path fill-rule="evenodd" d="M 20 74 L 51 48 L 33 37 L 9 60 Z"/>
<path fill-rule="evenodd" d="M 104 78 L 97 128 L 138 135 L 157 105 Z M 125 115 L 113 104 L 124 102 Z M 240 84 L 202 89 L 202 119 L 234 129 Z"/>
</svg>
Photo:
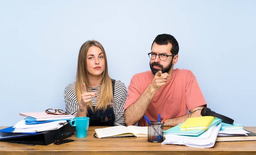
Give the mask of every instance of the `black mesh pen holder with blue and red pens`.
<svg viewBox="0 0 256 155">
<path fill-rule="evenodd" d="M 164 123 L 150 121 L 148 123 L 148 142 L 164 141 Z"/>
</svg>

